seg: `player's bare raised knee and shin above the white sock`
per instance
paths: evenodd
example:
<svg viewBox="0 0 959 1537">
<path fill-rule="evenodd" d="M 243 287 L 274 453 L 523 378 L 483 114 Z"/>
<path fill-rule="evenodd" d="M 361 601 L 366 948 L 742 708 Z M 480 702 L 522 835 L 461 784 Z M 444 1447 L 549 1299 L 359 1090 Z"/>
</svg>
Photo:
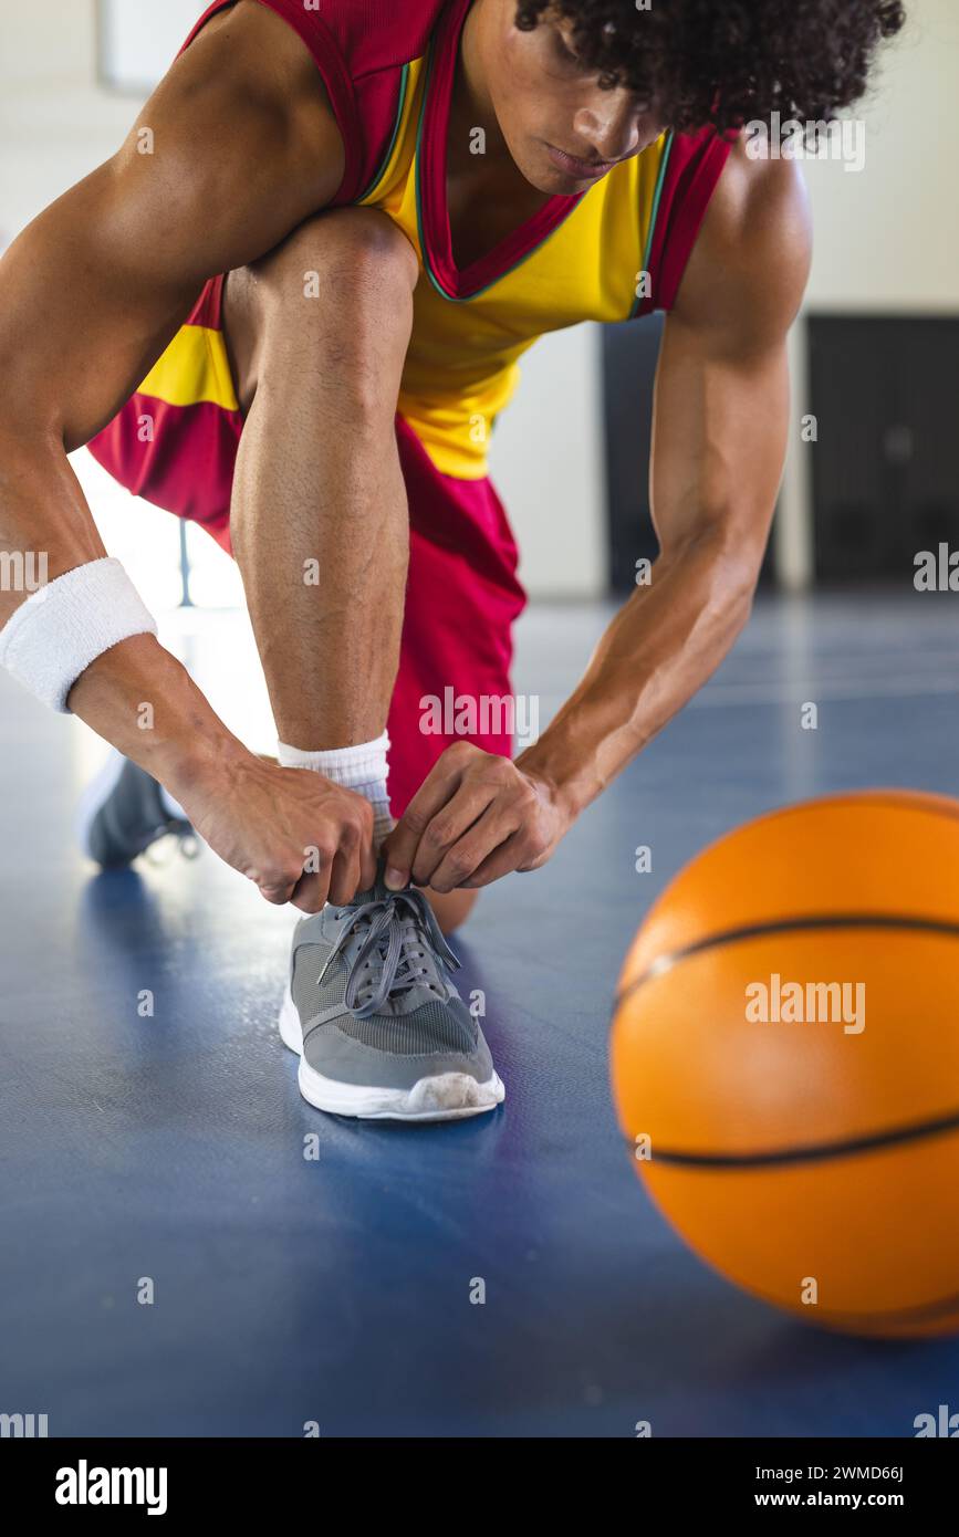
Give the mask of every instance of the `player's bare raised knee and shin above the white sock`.
<svg viewBox="0 0 959 1537">
<path fill-rule="evenodd" d="M 303 753 L 386 727 L 409 558 L 395 412 L 416 278 L 389 220 L 344 209 L 226 283 L 246 415 L 231 533 L 277 727 Z M 450 933 L 476 893 L 429 898 Z"/>
</svg>

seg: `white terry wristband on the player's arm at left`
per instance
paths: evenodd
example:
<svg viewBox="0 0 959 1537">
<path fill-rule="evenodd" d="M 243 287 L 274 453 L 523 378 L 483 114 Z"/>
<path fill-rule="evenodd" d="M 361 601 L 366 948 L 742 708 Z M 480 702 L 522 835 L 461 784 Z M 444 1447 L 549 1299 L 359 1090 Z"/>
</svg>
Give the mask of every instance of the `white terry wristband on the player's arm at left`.
<svg viewBox="0 0 959 1537">
<path fill-rule="evenodd" d="M 57 576 L 22 603 L 0 630 L 0 667 L 51 709 L 80 673 L 131 635 L 155 635 L 157 621 L 120 561 L 91 561 Z"/>
</svg>

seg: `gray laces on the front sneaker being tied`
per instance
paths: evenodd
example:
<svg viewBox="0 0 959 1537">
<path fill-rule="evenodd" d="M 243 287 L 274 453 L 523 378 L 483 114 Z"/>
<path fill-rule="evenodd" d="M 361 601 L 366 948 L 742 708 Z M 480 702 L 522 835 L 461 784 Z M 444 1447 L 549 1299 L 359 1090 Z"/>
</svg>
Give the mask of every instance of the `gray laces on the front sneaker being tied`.
<svg viewBox="0 0 959 1537">
<path fill-rule="evenodd" d="M 358 907 L 340 930 L 323 971 L 357 939 L 361 942 L 355 953 L 346 956 L 344 996 L 357 1019 L 380 1013 L 390 994 L 410 987 L 424 987 L 444 1001 L 449 996 L 440 965 L 458 970 L 460 961 L 423 891 L 409 887 Z M 370 970 L 377 982 L 369 998 L 361 999 L 361 990 L 370 985 Z"/>
</svg>

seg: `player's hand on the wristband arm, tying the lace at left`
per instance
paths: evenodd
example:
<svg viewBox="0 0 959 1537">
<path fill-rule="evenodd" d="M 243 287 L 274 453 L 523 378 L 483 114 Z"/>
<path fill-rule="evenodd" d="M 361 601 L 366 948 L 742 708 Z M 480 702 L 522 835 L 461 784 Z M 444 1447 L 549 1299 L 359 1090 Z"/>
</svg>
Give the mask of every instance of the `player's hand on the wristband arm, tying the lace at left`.
<svg viewBox="0 0 959 1537">
<path fill-rule="evenodd" d="M 318 913 L 327 898 L 343 905 L 373 885 L 373 808 L 323 775 L 244 755 L 174 795 L 267 902 Z"/>
</svg>

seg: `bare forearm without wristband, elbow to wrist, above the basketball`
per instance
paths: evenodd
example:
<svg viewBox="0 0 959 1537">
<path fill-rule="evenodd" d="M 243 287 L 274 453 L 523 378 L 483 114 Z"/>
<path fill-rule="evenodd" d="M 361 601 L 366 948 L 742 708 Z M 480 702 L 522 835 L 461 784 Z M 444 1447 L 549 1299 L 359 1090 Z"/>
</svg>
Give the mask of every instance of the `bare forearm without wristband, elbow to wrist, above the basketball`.
<svg viewBox="0 0 959 1537">
<path fill-rule="evenodd" d="M 661 556 L 616 615 L 582 681 L 516 765 L 578 816 L 692 699 L 742 630 L 761 550 L 702 535 Z"/>
</svg>

